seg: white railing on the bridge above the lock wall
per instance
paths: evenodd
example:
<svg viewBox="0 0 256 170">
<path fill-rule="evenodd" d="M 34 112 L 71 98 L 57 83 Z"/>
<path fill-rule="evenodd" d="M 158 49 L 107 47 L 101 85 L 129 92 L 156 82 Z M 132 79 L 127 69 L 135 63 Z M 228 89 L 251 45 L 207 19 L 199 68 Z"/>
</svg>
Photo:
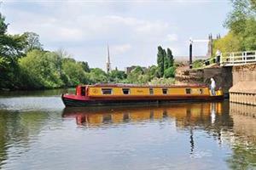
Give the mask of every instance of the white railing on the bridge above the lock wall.
<svg viewBox="0 0 256 170">
<path fill-rule="evenodd" d="M 256 63 L 256 51 L 224 53 L 220 57 L 221 66 L 246 65 Z"/>
</svg>

